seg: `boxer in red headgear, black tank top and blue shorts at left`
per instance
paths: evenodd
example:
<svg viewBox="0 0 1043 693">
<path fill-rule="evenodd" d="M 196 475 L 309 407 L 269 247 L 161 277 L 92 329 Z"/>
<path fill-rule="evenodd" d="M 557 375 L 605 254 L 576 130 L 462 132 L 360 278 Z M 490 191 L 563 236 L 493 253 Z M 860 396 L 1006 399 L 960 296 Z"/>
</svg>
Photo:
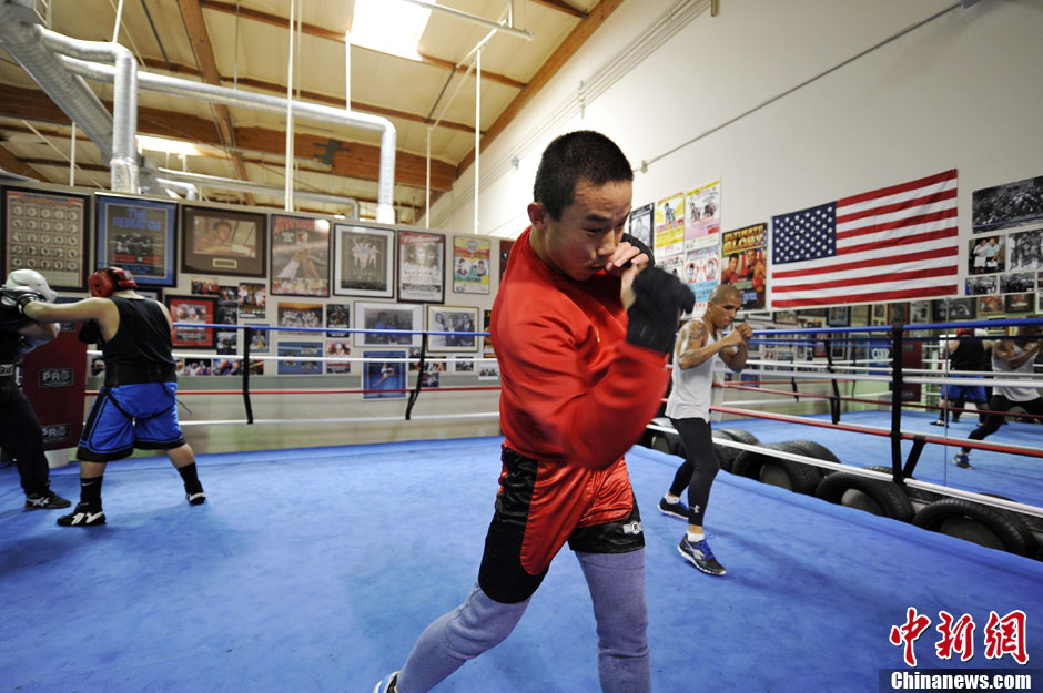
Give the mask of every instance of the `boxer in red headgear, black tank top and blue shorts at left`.
<svg viewBox="0 0 1043 693">
<path fill-rule="evenodd" d="M 173 325 L 166 307 L 138 294 L 133 275 L 105 267 L 88 277 L 91 298 L 52 305 L 21 297 L 19 309 L 40 323 L 83 322 L 80 340 L 97 343 L 105 361 L 105 385 L 98 394 L 77 449 L 80 502 L 58 518 L 62 527 L 104 524 L 101 481 L 105 463 L 130 457 L 134 448 L 164 450 L 184 481 L 190 505 L 206 500 L 195 455 L 178 424 L 176 375 L 171 355 Z"/>
</svg>

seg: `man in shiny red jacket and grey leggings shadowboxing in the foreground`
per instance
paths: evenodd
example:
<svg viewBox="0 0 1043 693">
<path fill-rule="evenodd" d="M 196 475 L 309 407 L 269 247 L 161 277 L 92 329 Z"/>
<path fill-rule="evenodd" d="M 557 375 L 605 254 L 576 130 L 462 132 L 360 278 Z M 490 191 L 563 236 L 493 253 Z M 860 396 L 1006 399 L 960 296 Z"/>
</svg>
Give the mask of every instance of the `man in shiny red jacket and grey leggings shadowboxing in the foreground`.
<svg viewBox="0 0 1043 693">
<path fill-rule="evenodd" d="M 493 304 L 504 430 L 500 489 L 477 583 L 376 693 L 422 693 L 502 642 L 568 542 L 590 589 L 601 690 L 651 689 L 645 538 L 624 452 L 666 390 L 691 291 L 624 236 L 630 164 L 601 134 L 550 143 L 531 225 Z"/>
</svg>

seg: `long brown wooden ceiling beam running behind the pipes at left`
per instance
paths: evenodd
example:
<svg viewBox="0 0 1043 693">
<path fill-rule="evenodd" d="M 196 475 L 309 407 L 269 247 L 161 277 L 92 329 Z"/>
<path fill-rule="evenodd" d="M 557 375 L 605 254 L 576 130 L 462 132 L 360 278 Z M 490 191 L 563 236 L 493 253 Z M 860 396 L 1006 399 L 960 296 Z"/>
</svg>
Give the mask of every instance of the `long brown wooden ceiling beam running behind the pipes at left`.
<svg viewBox="0 0 1043 693">
<path fill-rule="evenodd" d="M 110 104 L 107 104 L 110 105 Z M 111 108 L 111 105 L 110 105 Z M 69 126 L 71 123 L 61 109 L 48 96 L 34 89 L 6 86 L 4 99 L 0 100 L 0 116 L 23 118 Z M 223 146 L 212 121 L 176 113 L 162 109 L 139 106 L 138 129 L 142 134 L 188 140 L 199 144 Z M 330 137 L 297 133 L 294 135 L 294 152 L 300 161 L 318 159 L 330 149 Z M 263 152 L 284 156 L 286 153 L 286 133 L 267 128 L 240 128 L 236 130 L 237 149 Z M 381 147 L 355 142 L 337 142 L 331 175 L 365 181 L 379 180 Z M 409 187 L 426 187 L 427 159 L 408 152 L 395 154 L 395 184 Z M 453 187 L 456 167 L 453 164 L 433 159 L 431 162 L 431 185 L 433 190 L 448 191 Z"/>
</svg>

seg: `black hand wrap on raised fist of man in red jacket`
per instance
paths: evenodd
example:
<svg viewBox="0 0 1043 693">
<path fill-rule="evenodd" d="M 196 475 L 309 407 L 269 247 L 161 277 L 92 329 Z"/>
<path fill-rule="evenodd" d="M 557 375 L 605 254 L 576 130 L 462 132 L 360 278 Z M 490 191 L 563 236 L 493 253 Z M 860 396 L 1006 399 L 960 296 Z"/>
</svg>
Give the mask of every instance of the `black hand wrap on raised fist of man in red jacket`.
<svg viewBox="0 0 1043 693">
<path fill-rule="evenodd" d="M 672 274 L 647 267 L 634 279 L 634 304 L 627 308 L 627 342 L 657 351 L 674 348 L 677 320 L 696 306 L 696 295 Z"/>
</svg>

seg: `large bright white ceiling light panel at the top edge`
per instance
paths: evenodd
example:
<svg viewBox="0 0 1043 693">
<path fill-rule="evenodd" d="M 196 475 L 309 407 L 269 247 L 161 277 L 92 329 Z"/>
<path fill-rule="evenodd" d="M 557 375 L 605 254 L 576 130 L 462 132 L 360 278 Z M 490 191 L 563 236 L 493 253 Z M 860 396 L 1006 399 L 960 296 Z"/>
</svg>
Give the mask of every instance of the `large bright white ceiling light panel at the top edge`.
<svg viewBox="0 0 1043 693">
<path fill-rule="evenodd" d="M 404 0 L 355 0 L 352 42 L 355 45 L 419 60 L 416 45 L 431 10 Z"/>
</svg>

